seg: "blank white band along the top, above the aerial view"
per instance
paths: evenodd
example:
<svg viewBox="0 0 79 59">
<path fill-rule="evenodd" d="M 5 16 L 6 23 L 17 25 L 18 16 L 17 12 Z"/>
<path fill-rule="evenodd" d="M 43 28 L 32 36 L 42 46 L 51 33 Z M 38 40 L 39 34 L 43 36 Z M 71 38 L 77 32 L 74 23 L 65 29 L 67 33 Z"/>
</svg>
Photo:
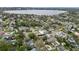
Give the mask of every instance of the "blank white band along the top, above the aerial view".
<svg viewBox="0 0 79 59">
<path fill-rule="evenodd" d="M 0 7 L 79 7 L 79 0 L 0 0 Z"/>
</svg>

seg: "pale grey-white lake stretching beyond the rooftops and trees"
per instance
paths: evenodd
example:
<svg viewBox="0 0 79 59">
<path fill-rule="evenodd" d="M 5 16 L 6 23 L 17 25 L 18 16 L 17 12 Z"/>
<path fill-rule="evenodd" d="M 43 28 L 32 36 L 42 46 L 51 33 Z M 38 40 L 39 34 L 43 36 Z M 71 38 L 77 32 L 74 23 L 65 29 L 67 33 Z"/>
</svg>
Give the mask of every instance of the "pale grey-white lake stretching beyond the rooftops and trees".
<svg viewBox="0 0 79 59">
<path fill-rule="evenodd" d="M 35 15 L 56 15 L 60 13 L 64 13 L 66 11 L 60 10 L 9 10 L 4 11 L 4 13 L 10 14 L 35 14 Z"/>
</svg>

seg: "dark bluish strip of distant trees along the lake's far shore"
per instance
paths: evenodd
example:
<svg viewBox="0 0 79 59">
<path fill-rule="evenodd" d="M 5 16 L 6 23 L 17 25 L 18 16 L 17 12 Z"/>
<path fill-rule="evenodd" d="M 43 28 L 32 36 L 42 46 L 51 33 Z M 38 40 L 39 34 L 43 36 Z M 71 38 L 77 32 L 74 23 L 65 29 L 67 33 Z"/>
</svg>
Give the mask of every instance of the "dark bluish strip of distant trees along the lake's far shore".
<svg viewBox="0 0 79 59">
<path fill-rule="evenodd" d="M 79 11 L 77 7 L 0 7 L 1 11 L 4 10 L 64 10 L 64 11 Z"/>
</svg>

